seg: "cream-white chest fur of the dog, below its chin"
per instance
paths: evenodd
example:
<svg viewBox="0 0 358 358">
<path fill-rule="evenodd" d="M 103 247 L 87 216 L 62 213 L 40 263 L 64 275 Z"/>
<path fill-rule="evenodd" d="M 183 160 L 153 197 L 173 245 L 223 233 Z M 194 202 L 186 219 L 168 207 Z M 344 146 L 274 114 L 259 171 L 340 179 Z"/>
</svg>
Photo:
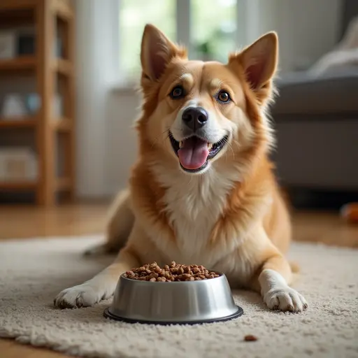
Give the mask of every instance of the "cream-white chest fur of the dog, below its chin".
<svg viewBox="0 0 358 358">
<path fill-rule="evenodd" d="M 207 243 L 215 223 L 222 215 L 227 196 L 238 178 L 237 171 L 220 175 L 211 167 L 203 176 L 189 176 L 175 171 L 156 169 L 157 176 L 168 189 L 164 196 L 166 211 L 176 234 L 177 248 L 166 252 L 178 262 L 215 261 Z"/>
</svg>

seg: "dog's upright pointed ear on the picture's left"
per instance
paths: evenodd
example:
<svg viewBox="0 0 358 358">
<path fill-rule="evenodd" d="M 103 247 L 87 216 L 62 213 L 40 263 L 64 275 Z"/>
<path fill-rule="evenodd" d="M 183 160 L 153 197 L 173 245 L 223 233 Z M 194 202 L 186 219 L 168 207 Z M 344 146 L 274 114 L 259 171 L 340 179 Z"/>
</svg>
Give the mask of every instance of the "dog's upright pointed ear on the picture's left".
<svg viewBox="0 0 358 358">
<path fill-rule="evenodd" d="M 171 42 L 162 31 L 152 24 L 146 24 L 141 45 L 141 64 L 145 77 L 159 80 L 166 66 L 174 57 L 186 57 L 185 49 Z"/>
</svg>

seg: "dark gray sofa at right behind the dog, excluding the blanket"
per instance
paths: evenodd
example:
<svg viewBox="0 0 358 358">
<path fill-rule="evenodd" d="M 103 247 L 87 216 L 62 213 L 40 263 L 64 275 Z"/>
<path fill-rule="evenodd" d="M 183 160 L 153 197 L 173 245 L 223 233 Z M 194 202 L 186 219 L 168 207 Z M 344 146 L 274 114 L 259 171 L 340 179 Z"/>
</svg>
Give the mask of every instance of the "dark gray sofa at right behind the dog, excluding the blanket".
<svg viewBox="0 0 358 358">
<path fill-rule="evenodd" d="M 342 33 L 357 14 L 358 1 L 345 1 Z M 273 159 L 294 203 L 336 208 L 358 200 L 358 67 L 287 73 L 277 85 Z"/>
</svg>

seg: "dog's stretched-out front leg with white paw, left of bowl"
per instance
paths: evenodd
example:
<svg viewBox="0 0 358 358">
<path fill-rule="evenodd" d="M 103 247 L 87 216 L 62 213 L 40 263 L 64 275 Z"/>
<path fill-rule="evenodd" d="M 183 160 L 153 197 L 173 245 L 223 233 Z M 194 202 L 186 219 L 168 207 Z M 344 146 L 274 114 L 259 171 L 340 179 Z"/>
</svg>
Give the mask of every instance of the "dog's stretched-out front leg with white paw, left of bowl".
<svg viewBox="0 0 358 358">
<path fill-rule="evenodd" d="M 115 262 L 94 278 L 60 292 L 54 300 L 54 305 L 58 308 L 80 308 L 109 299 L 115 292 L 120 275 L 138 266 L 140 263 L 135 251 L 130 247 L 123 248 Z"/>
</svg>

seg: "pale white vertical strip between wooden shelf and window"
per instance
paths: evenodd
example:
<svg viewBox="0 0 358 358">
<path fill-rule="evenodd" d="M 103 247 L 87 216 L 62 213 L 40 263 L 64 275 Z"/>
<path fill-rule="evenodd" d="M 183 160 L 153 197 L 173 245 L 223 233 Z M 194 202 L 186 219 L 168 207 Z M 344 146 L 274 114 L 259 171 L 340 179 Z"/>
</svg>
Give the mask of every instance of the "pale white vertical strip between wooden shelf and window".
<svg viewBox="0 0 358 358">
<path fill-rule="evenodd" d="M 77 194 L 101 197 L 107 190 L 108 96 L 115 64 L 117 0 L 76 0 Z"/>
</svg>

